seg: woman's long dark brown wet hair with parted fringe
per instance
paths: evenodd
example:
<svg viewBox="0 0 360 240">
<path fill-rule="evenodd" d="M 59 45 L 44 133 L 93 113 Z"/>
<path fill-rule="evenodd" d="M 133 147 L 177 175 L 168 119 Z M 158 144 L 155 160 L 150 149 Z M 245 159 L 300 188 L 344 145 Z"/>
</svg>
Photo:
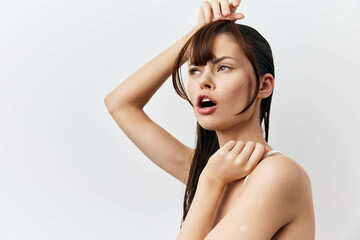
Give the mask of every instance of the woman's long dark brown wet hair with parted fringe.
<svg viewBox="0 0 360 240">
<path fill-rule="evenodd" d="M 270 73 L 275 77 L 272 51 L 266 39 L 254 28 L 237 24 L 230 20 L 220 20 L 211 22 L 198 29 L 185 43 L 179 52 L 172 72 L 172 81 L 176 93 L 186 99 L 191 105 L 191 101 L 185 91 L 181 76 L 181 65 L 184 57 L 189 57 L 189 62 L 196 66 L 204 66 L 208 61 L 215 58 L 211 52 L 214 39 L 219 34 L 228 34 L 238 43 L 245 56 L 250 61 L 255 77 L 255 93 L 249 104 L 238 114 L 245 112 L 256 100 L 259 92 L 260 77 Z M 265 140 L 268 142 L 269 135 L 269 116 L 272 93 L 267 98 L 261 100 L 260 104 L 260 126 L 264 122 Z M 189 176 L 186 184 L 183 217 L 181 225 L 186 218 L 194 198 L 200 174 L 207 164 L 208 159 L 219 149 L 219 142 L 216 132 L 207 130 L 197 122 L 196 148 L 191 161 Z"/>
</svg>

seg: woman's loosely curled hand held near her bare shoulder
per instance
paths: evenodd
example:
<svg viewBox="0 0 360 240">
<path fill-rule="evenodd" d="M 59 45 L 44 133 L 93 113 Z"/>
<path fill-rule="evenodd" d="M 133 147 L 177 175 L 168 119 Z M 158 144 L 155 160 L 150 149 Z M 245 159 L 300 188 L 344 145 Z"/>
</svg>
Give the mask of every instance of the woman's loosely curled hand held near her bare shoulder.
<svg viewBox="0 0 360 240">
<path fill-rule="evenodd" d="M 231 140 L 209 158 L 201 177 L 224 187 L 249 175 L 269 150 L 260 143 Z"/>
</svg>

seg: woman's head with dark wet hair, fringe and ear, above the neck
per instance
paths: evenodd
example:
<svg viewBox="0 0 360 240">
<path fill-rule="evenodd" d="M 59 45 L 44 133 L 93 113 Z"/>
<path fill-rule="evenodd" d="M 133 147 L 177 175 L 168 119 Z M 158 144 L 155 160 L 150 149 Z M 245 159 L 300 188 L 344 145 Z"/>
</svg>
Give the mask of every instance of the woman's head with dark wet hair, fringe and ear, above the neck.
<svg viewBox="0 0 360 240">
<path fill-rule="evenodd" d="M 187 91 L 180 73 L 184 57 L 189 63 Z M 267 41 L 249 26 L 222 20 L 203 26 L 185 44 L 174 65 L 173 83 L 193 106 L 201 127 L 220 130 L 252 118 L 260 124 L 265 119 L 267 139 L 274 75 Z M 206 98 L 217 103 L 211 114 L 204 111 L 209 108 L 198 111 L 199 101 Z"/>
</svg>

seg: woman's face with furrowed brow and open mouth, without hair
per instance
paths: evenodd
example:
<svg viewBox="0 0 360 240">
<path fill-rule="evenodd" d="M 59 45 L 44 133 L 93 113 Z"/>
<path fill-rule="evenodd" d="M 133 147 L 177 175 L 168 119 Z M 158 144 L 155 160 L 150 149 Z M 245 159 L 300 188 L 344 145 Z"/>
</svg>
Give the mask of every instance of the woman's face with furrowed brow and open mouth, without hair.
<svg viewBox="0 0 360 240">
<path fill-rule="evenodd" d="M 256 78 L 250 61 L 232 36 L 217 35 L 212 52 L 215 58 L 205 66 L 189 65 L 187 92 L 199 124 L 208 130 L 225 130 L 254 115 L 255 104 L 237 114 L 253 97 Z"/>
</svg>

